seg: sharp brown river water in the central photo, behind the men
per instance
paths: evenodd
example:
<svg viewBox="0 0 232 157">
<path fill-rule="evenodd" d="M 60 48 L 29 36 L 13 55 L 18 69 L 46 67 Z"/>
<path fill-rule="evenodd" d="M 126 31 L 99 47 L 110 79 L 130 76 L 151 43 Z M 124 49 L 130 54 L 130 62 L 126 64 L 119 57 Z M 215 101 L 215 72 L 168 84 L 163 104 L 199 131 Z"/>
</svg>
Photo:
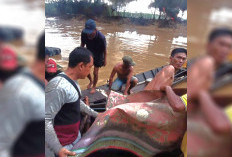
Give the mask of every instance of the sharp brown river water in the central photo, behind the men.
<svg viewBox="0 0 232 157">
<path fill-rule="evenodd" d="M 80 46 L 81 31 L 85 21 L 61 18 L 46 18 L 46 46 L 59 47 L 62 57 L 55 57 L 57 63 L 67 67 L 69 53 Z M 187 27 L 157 28 L 151 26 L 119 25 L 117 23 L 97 22 L 97 29 L 106 37 L 107 65 L 99 71 L 97 85 L 107 83 L 112 68 L 124 55 L 129 55 L 136 62 L 134 73 L 138 74 L 169 62 L 169 55 L 176 47 L 187 48 Z M 79 81 L 85 89 L 88 79 Z"/>
</svg>

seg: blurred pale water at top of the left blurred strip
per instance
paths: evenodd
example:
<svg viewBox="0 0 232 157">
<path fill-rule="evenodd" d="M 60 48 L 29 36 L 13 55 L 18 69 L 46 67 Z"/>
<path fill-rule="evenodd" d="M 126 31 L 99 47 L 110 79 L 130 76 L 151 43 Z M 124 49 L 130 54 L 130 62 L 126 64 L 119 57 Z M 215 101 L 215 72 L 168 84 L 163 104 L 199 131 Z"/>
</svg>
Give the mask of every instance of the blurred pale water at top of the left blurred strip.
<svg viewBox="0 0 232 157">
<path fill-rule="evenodd" d="M 38 37 L 44 32 L 44 2 L 39 0 L 1 0 L 0 25 L 20 28 L 23 39 L 10 43 L 15 52 L 24 58 L 23 64 L 34 60 Z"/>
</svg>

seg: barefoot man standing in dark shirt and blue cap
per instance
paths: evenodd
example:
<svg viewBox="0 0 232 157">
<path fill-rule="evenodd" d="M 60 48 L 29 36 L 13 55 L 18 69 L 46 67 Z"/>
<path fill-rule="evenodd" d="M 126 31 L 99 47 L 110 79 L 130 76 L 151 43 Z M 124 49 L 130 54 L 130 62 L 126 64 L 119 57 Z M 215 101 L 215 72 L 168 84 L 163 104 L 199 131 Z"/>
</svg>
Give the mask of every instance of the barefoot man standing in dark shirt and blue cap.
<svg viewBox="0 0 232 157">
<path fill-rule="evenodd" d="M 81 47 L 85 45 L 87 49 L 92 52 L 94 59 L 94 79 L 92 80 L 91 75 L 88 75 L 90 83 L 87 88 L 92 87 L 90 93 L 95 93 L 99 68 L 106 66 L 106 39 L 105 36 L 96 29 L 96 23 L 92 19 L 86 21 L 85 29 L 81 33 Z"/>
</svg>

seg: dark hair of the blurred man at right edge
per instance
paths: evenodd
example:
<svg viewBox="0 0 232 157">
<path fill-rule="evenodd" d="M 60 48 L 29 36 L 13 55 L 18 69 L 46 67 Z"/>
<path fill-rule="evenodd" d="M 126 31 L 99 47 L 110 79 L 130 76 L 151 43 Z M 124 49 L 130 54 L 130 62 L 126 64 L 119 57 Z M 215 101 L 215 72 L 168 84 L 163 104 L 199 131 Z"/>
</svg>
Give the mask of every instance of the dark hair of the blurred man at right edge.
<svg viewBox="0 0 232 157">
<path fill-rule="evenodd" d="M 230 36 L 232 38 L 232 30 L 229 28 L 216 28 L 209 34 L 208 42 L 212 42 L 221 36 Z"/>
</svg>

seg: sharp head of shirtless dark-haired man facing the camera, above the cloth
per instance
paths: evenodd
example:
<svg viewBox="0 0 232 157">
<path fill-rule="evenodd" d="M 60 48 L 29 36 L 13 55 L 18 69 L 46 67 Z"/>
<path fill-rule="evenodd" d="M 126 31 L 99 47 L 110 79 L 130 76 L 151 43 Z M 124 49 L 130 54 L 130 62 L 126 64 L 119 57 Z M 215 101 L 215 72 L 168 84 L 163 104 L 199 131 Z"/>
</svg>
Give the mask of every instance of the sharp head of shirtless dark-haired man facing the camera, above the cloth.
<svg viewBox="0 0 232 157">
<path fill-rule="evenodd" d="M 187 59 L 187 50 L 184 48 L 175 48 L 171 52 L 170 65 L 175 69 L 180 69 Z"/>
</svg>

